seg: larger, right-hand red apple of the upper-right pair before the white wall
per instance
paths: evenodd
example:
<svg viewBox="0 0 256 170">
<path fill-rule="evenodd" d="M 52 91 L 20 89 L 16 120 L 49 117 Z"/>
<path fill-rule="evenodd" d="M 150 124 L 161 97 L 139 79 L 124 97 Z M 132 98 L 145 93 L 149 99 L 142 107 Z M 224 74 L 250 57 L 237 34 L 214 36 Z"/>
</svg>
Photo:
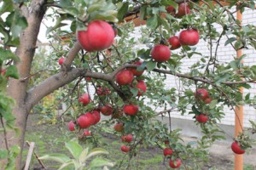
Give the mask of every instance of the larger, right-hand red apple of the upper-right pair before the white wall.
<svg viewBox="0 0 256 170">
<path fill-rule="evenodd" d="M 187 29 L 187 30 L 183 30 L 180 32 L 179 34 L 179 42 L 182 45 L 190 45 L 190 46 L 194 46 L 199 42 L 199 33 L 198 31 L 196 31 L 195 29 Z"/>
</svg>

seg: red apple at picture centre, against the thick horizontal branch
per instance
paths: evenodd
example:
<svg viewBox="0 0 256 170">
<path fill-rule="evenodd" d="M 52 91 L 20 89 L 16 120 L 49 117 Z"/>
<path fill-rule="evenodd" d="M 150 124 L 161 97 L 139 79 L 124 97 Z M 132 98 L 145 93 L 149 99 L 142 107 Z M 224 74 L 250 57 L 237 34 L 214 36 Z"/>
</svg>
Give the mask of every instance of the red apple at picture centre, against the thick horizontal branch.
<svg viewBox="0 0 256 170">
<path fill-rule="evenodd" d="M 131 84 L 133 81 L 133 74 L 128 70 L 119 71 L 115 77 L 115 80 L 119 85 Z"/>
</svg>

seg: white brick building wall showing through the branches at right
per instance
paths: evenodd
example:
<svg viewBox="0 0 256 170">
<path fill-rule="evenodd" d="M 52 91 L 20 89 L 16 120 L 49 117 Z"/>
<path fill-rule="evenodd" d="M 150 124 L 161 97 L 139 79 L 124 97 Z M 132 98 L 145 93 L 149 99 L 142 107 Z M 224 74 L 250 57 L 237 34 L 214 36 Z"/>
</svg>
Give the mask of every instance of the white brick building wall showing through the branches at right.
<svg viewBox="0 0 256 170">
<path fill-rule="evenodd" d="M 256 13 L 253 10 L 247 10 L 243 13 L 243 25 L 253 24 L 256 25 Z M 216 26 L 218 28 L 218 26 Z M 230 62 L 236 57 L 236 51 L 231 47 L 231 45 L 224 46 L 224 42 L 226 38 L 223 38 L 219 44 L 218 48 L 218 59 L 221 62 Z M 207 43 L 201 40 L 198 45 L 196 46 L 196 51 L 200 52 L 201 54 L 210 54 L 210 51 L 207 47 Z M 174 51 L 176 53 L 176 50 Z M 244 49 L 243 54 L 247 54 L 247 57 L 244 59 L 244 65 L 255 65 L 256 64 L 256 50 L 253 48 Z M 189 66 L 194 64 L 199 58 L 199 56 L 192 56 L 191 59 L 183 59 L 183 72 L 189 72 Z M 173 76 L 169 76 L 166 81 L 166 88 L 177 87 L 178 79 Z M 253 87 L 249 91 L 247 89 L 244 90 L 244 94 L 248 92 L 251 93 L 251 97 L 256 94 L 256 85 L 251 84 Z M 235 125 L 235 113 L 234 111 L 230 110 L 230 108 L 225 107 L 224 113 L 226 114 L 225 117 L 221 120 L 221 123 L 225 125 Z M 190 115 L 181 116 L 179 113 L 172 113 L 172 116 L 175 118 L 182 118 L 182 119 L 192 119 Z M 256 111 L 252 106 L 245 105 L 244 106 L 244 126 L 250 127 L 250 123 L 248 120 L 256 121 Z"/>
</svg>

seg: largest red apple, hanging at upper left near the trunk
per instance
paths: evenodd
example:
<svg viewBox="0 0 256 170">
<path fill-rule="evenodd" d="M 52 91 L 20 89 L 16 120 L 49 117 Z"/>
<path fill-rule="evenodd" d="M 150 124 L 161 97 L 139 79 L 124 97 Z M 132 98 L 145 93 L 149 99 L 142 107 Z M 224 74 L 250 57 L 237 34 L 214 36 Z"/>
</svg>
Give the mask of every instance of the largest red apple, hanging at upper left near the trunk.
<svg viewBox="0 0 256 170">
<path fill-rule="evenodd" d="M 86 51 L 99 51 L 112 45 L 114 31 L 108 22 L 94 20 L 89 23 L 86 31 L 78 31 L 77 38 Z"/>
</svg>

